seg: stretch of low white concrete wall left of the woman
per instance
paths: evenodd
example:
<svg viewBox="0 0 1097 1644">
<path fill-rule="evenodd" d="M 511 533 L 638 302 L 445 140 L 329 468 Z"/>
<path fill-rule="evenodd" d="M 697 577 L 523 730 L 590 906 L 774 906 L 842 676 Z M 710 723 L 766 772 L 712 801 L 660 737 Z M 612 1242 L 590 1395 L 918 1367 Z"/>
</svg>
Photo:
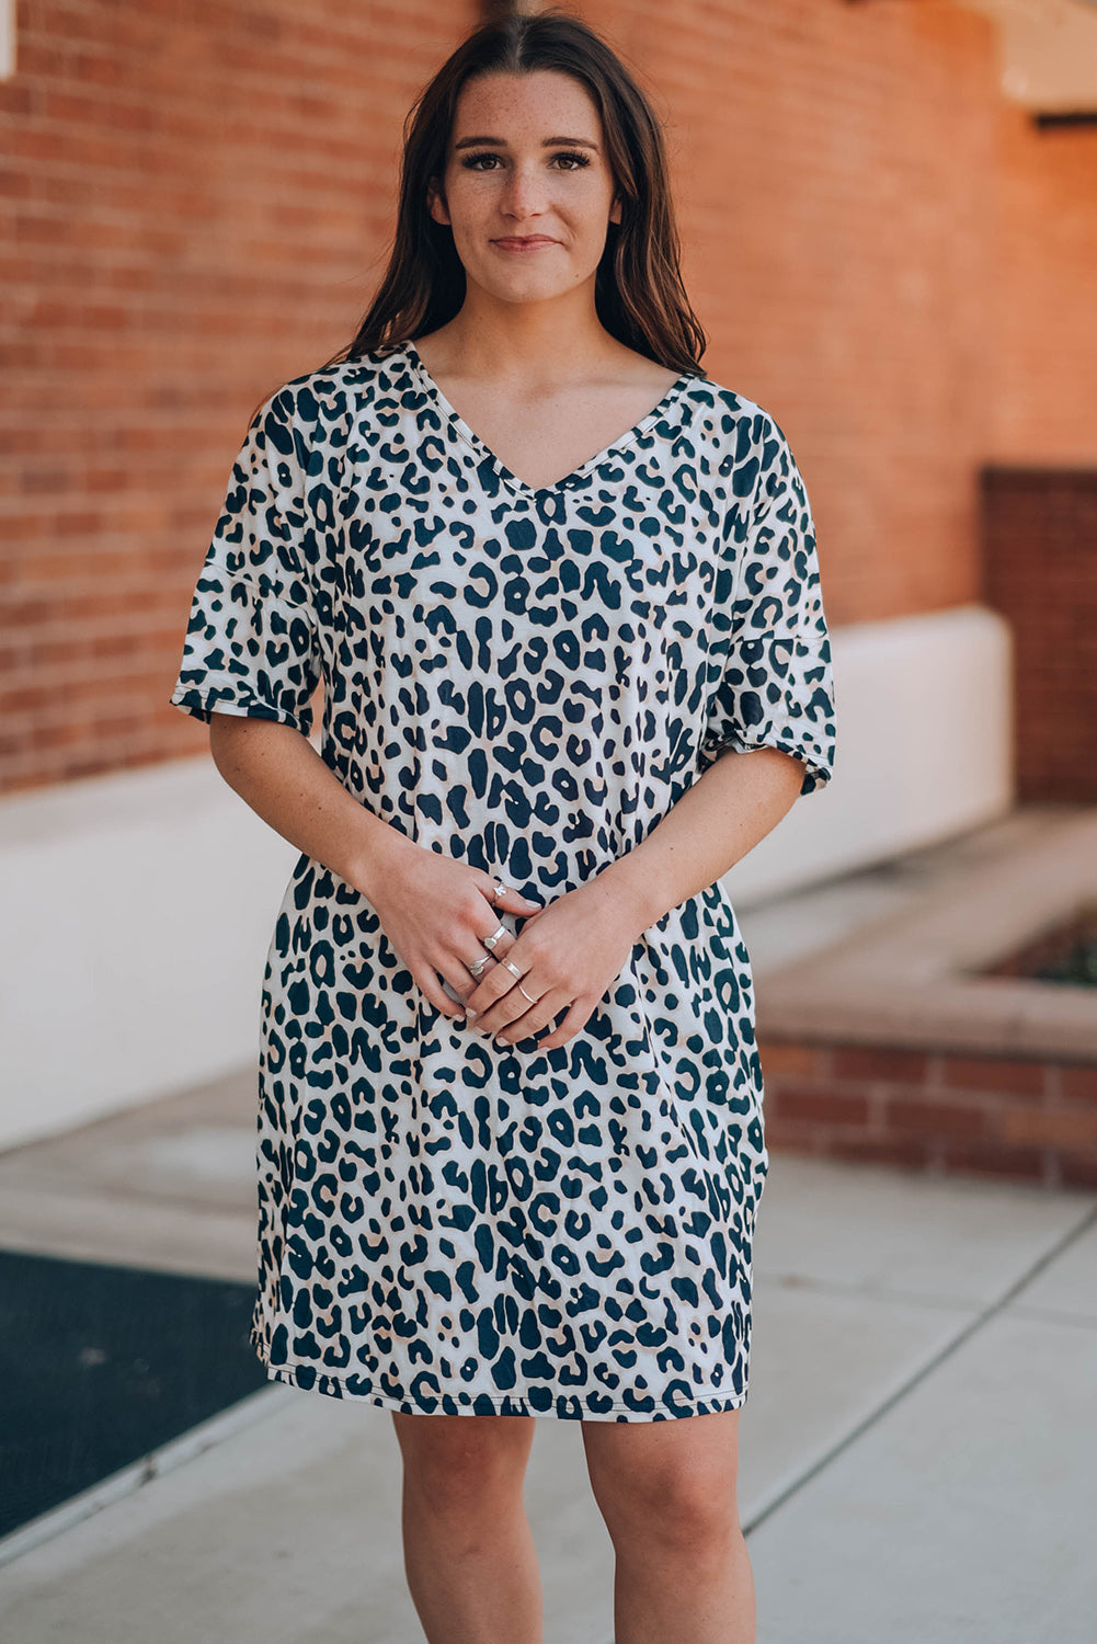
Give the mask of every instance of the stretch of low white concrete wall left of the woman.
<svg viewBox="0 0 1097 1644">
<path fill-rule="evenodd" d="M 0 1146 L 257 1055 L 298 852 L 207 755 L 0 804 Z"/>
</svg>

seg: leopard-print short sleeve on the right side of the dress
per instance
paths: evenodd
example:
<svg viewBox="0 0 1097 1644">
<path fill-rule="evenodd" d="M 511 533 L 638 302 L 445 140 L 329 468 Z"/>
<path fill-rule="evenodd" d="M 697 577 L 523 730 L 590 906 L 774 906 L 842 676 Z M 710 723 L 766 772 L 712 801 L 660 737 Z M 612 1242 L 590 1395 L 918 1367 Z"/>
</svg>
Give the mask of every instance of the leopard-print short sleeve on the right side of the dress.
<svg viewBox="0 0 1097 1644">
<path fill-rule="evenodd" d="M 799 792 L 834 771 L 834 679 L 808 492 L 788 441 L 758 413 L 757 485 L 735 510 L 735 559 L 717 577 L 722 672 L 707 704 L 702 768 L 725 750 L 778 748 L 804 763 Z M 724 649 L 725 646 L 725 649 Z"/>
</svg>

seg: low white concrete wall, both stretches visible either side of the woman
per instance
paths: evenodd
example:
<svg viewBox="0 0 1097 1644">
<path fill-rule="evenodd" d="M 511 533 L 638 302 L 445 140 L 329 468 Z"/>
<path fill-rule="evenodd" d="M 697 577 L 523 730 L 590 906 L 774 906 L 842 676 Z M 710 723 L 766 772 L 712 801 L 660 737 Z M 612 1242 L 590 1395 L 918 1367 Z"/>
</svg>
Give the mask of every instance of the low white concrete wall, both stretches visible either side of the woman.
<svg viewBox="0 0 1097 1644">
<path fill-rule="evenodd" d="M 1008 809 L 1010 644 L 979 607 L 832 633 L 839 755 L 738 904 Z M 252 1060 L 296 850 L 202 755 L 0 802 L 0 1146 Z"/>
</svg>

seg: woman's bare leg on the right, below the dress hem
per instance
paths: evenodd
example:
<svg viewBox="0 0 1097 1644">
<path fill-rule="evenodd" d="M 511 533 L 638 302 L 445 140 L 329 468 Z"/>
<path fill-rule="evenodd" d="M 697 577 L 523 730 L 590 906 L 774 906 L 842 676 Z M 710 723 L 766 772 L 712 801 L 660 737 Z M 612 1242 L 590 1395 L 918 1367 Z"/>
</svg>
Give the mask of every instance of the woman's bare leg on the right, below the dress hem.
<svg viewBox="0 0 1097 1644">
<path fill-rule="evenodd" d="M 582 1438 L 617 1554 L 613 1644 L 755 1644 L 738 1411 L 584 1422 Z"/>
</svg>

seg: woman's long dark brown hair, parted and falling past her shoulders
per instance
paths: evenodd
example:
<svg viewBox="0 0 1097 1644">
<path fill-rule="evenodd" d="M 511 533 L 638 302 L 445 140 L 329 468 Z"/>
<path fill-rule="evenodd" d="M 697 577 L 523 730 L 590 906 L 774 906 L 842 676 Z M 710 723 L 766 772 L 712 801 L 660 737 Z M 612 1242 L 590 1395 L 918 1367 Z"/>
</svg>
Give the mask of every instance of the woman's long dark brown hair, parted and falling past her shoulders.
<svg viewBox="0 0 1097 1644">
<path fill-rule="evenodd" d="M 699 362 L 707 339 L 683 286 L 660 122 L 612 48 L 587 23 L 559 10 L 482 23 L 413 104 L 405 120 L 400 207 L 385 278 L 354 340 L 321 370 L 424 337 L 457 314 L 465 273 L 452 230 L 431 217 L 428 189 L 446 173 L 465 82 L 480 74 L 535 69 L 571 74 L 602 117 L 622 220 L 609 225 L 595 275 L 599 321 L 636 353 L 679 375 L 704 375 Z"/>
</svg>

